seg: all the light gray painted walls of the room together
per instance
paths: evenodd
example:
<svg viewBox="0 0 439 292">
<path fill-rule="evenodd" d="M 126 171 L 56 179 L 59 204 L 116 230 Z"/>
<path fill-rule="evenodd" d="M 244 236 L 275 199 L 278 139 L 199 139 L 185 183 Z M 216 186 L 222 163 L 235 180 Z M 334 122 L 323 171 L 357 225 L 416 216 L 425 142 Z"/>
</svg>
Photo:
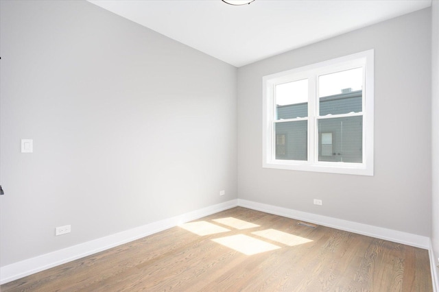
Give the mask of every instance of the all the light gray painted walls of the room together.
<svg viewBox="0 0 439 292">
<path fill-rule="evenodd" d="M 237 76 L 233 66 L 91 3 L 0 5 L 1 266 L 234 199 L 237 178 L 242 199 L 432 230 L 439 254 L 437 134 L 432 226 L 429 212 L 430 10 L 250 64 Z M 262 76 L 366 49 L 375 49 L 375 176 L 262 169 Z M 436 58 L 436 112 L 438 67 Z M 435 115 L 434 135 L 438 127 Z M 21 138 L 34 139 L 34 154 L 20 153 Z M 71 234 L 54 236 L 65 224 Z"/>
</svg>

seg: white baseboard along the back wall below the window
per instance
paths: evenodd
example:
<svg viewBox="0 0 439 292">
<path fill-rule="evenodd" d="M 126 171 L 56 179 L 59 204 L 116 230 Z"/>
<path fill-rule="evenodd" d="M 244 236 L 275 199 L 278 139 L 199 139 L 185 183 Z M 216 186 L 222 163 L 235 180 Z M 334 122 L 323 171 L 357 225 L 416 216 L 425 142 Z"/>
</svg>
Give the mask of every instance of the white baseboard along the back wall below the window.
<svg viewBox="0 0 439 292">
<path fill-rule="evenodd" d="M 287 218 L 307 221 L 321 226 L 327 226 L 339 230 L 345 230 L 357 234 L 372 236 L 377 239 L 384 239 L 386 241 L 403 243 L 405 245 L 420 247 L 425 250 L 429 250 L 431 244 L 430 239 L 427 236 L 410 234 L 407 232 L 390 230 L 387 228 L 381 228 L 377 226 L 370 226 L 363 223 L 357 223 L 357 222 L 346 221 L 343 219 L 337 219 L 333 217 L 316 215 L 316 214 L 302 212 L 294 209 L 272 206 L 268 204 L 261 204 L 257 202 L 248 201 L 246 199 L 238 199 L 238 206 L 253 209 L 253 210 L 259 210 L 262 212 L 279 215 Z"/>
</svg>

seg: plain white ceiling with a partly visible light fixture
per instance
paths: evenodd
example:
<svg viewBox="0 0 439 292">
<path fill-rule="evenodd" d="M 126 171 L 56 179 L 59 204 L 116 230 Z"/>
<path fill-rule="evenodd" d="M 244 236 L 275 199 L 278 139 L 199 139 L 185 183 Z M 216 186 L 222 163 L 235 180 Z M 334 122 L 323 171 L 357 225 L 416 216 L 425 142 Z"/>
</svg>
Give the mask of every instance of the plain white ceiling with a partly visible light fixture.
<svg viewBox="0 0 439 292">
<path fill-rule="evenodd" d="M 90 2 L 237 67 L 431 5 L 431 0 Z"/>
</svg>

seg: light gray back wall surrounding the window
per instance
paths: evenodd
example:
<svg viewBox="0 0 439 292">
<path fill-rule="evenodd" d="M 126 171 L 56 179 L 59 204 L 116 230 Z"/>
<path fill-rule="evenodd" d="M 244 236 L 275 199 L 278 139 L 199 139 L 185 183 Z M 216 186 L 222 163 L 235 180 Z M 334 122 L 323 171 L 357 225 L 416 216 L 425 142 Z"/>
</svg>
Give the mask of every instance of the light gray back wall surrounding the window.
<svg viewBox="0 0 439 292">
<path fill-rule="evenodd" d="M 430 16 L 420 10 L 240 67 L 239 198 L 429 236 Z M 375 49 L 375 175 L 263 169 L 262 77 L 368 49 Z"/>
</svg>

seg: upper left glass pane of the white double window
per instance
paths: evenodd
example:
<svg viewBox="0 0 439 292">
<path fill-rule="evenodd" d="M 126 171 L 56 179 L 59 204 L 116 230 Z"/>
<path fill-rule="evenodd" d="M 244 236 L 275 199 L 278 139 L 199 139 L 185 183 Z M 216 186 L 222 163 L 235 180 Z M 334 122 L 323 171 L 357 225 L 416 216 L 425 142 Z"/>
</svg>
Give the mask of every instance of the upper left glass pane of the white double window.
<svg viewBox="0 0 439 292">
<path fill-rule="evenodd" d="M 308 117 L 308 80 L 276 85 L 276 119 Z"/>
</svg>

